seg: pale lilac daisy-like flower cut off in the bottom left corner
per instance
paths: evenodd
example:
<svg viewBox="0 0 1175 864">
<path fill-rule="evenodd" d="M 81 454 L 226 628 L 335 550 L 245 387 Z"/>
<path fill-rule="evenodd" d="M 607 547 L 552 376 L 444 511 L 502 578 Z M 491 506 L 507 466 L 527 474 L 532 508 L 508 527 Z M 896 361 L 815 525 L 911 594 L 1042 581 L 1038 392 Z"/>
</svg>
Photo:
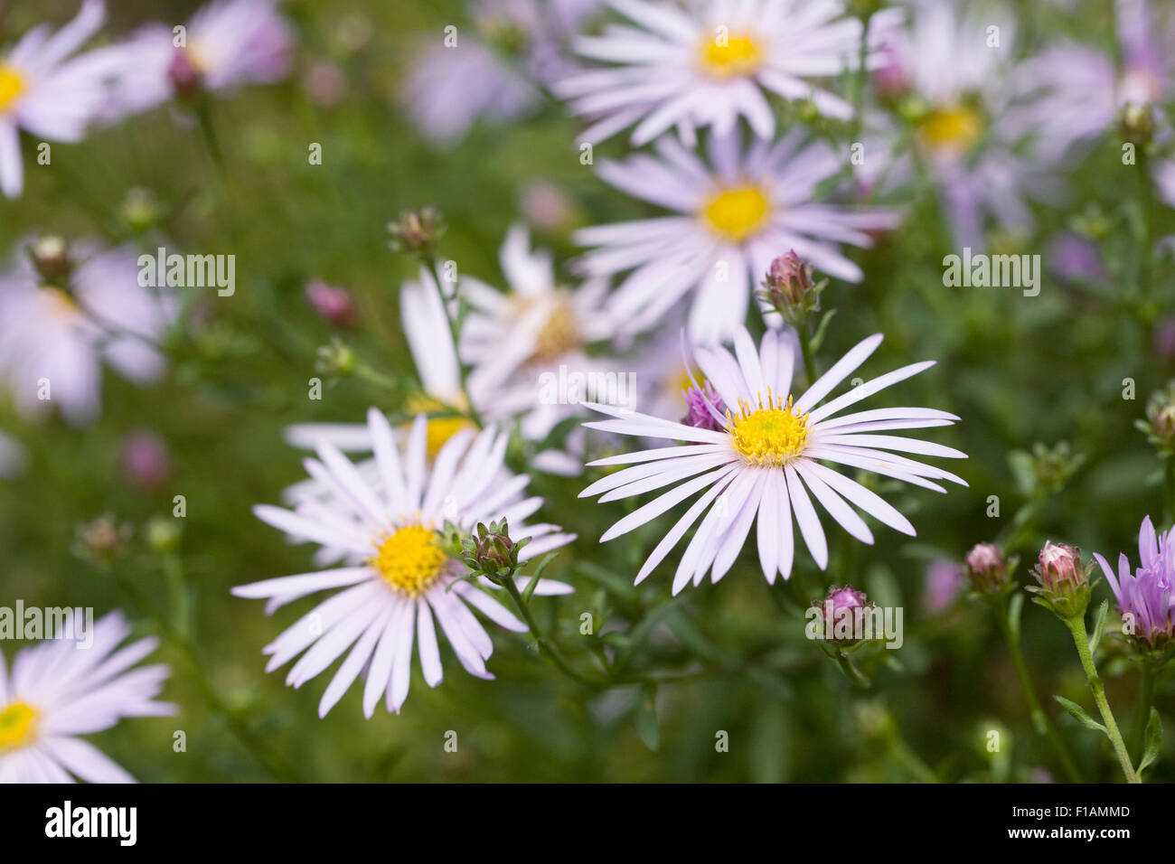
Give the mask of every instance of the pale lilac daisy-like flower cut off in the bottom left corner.
<svg viewBox="0 0 1175 864">
<path fill-rule="evenodd" d="M 0 783 L 134 783 L 108 756 L 78 737 L 123 717 L 166 717 L 155 702 L 170 674 L 162 664 L 132 669 L 159 641 L 119 644 L 130 627 L 119 612 L 94 623 L 87 645 L 46 639 L 22 649 L 8 674 L 0 655 Z M 81 649 L 81 650 L 79 650 Z"/>
</svg>

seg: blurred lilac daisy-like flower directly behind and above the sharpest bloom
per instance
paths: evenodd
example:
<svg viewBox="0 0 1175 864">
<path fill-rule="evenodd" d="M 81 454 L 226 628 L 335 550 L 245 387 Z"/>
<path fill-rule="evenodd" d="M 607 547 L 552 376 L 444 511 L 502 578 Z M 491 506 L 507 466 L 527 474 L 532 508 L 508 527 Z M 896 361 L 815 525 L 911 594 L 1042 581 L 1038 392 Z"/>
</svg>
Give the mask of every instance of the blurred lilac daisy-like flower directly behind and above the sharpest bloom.
<svg viewBox="0 0 1175 864">
<path fill-rule="evenodd" d="M 591 277 L 629 272 L 607 310 L 632 330 L 656 323 L 682 296 L 696 292 L 689 334 L 707 344 L 728 340 L 746 317 L 757 282 L 786 249 L 815 269 L 859 282 L 861 269 L 840 243 L 868 248 L 870 232 L 897 227 L 898 214 L 812 200 L 817 187 L 844 168 L 822 141 L 792 129 L 772 145 L 738 133 L 711 136 L 706 165 L 673 138 L 657 158 L 638 154 L 603 162 L 599 176 L 636 197 L 676 210 L 672 216 L 618 222 L 576 232 L 596 247 L 579 261 Z"/>
</svg>

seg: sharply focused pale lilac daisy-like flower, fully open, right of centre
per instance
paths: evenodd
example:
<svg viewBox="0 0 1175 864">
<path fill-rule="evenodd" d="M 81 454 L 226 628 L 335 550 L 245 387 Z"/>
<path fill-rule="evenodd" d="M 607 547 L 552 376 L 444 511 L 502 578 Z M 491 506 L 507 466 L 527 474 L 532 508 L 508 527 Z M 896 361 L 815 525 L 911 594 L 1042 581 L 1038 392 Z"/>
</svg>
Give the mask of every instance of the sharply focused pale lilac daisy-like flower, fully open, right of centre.
<svg viewBox="0 0 1175 864">
<path fill-rule="evenodd" d="M 892 504 L 822 464 L 862 469 L 935 491 L 946 491 L 936 480 L 966 485 L 949 471 L 888 453 L 966 458 L 949 447 L 887 434 L 893 429 L 949 426 L 959 420 L 953 414 L 931 408 L 841 414 L 848 406 L 933 366 L 933 361 L 895 369 L 821 404 L 880 343 L 880 334 L 861 341 L 798 397 L 791 395 L 794 355 L 774 330 L 764 336 L 760 350 L 744 328 L 734 335 L 733 356 L 721 347 L 698 348 L 694 359 L 726 406 L 725 415 L 714 411 L 720 426 L 717 430 L 592 406 L 613 418 L 586 423 L 589 428 L 686 442 L 591 463 L 631 467 L 592 483 L 580 497 L 602 495 L 600 501 L 615 501 L 672 487 L 607 529 L 600 542 L 626 534 L 703 493 L 665 533 L 637 574 L 639 583 L 701 517 L 673 577 L 677 594 L 691 580 L 700 584 L 707 570 L 714 582 L 725 576 L 757 514 L 759 564 L 768 582 L 774 582 L 778 572 L 784 578 L 791 576 L 793 525 L 799 525 L 812 558 L 824 569 L 828 545 L 812 498 L 864 543 L 873 542 L 873 533 L 854 504 L 879 522 L 913 535 L 909 520 Z"/>
</svg>

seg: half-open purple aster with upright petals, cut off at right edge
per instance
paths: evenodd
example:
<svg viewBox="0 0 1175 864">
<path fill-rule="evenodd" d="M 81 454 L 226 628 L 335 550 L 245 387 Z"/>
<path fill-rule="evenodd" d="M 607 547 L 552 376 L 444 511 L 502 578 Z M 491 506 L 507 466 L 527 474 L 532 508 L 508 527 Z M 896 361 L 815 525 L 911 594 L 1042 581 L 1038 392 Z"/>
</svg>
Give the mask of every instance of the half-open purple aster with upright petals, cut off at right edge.
<svg viewBox="0 0 1175 864">
<path fill-rule="evenodd" d="M 1135 638 L 1150 648 L 1166 645 L 1175 635 L 1175 543 L 1171 533 L 1155 533 L 1147 516 L 1139 528 L 1139 568 L 1132 574 L 1122 552 L 1117 575 L 1101 555 L 1094 558 L 1114 591 L 1117 609 L 1134 625 Z"/>
</svg>

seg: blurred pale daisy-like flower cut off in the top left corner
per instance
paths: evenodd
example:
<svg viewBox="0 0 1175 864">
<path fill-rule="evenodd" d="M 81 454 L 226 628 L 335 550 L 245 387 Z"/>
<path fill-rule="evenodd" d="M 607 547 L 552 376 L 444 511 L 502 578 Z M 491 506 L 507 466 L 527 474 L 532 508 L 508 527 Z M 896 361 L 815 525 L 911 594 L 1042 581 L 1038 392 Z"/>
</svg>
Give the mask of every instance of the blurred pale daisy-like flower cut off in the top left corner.
<svg viewBox="0 0 1175 864">
<path fill-rule="evenodd" d="M 108 71 L 92 55 L 69 59 L 106 19 L 101 0 L 86 0 L 78 16 L 49 35 L 34 27 L 0 54 L 0 190 L 24 189 L 20 129 L 46 141 L 80 141 L 106 100 Z"/>
</svg>

